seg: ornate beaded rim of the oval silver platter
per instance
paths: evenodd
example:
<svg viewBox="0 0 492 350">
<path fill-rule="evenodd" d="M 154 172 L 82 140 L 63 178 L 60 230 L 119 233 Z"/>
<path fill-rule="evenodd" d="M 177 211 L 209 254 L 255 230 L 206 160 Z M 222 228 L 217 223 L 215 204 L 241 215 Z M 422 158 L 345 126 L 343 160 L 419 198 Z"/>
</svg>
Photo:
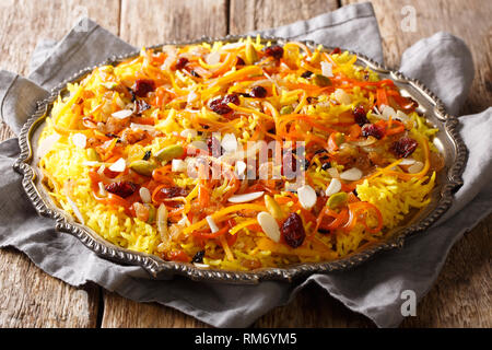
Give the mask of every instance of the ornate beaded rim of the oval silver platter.
<svg viewBox="0 0 492 350">
<path fill-rule="evenodd" d="M 203 42 L 234 42 L 239 38 L 245 38 L 246 35 L 227 35 L 225 37 L 220 38 L 211 38 L 211 37 L 201 37 L 196 40 L 189 40 L 185 43 L 171 42 L 160 45 L 154 45 L 149 48 L 161 48 L 166 45 L 188 45 L 188 44 L 198 44 Z M 262 36 L 263 40 L 269 42 L 278 42 L 282 43 L 288 40 L 286 38 L 272 37 L 272 36 Z M 302 43 L 306 44 L 309 47 L 315 47 L 317 44 L 313 40 L 302 40 Z M 325 47 L 325 49 L 329 49 L 329 47 Z M 70 79 L 67 79 L 62 83 L 58 84 L 54 89 L 51 89 L 49 95 L 43 100 L 37 102 L 36 112 L 27 119 L 24 124 L 20 135 L 19 135 L 19 145 L 21 149 L 21 154 L 19 159 L 15 161 L 13 167 L 16 172 L 23 175 L 22 185 L 23 188 L 35 207 L 36 211 L 39 215 L 51 218 L 56 221 L 55 229 L 60 232 L 66 232 L 71 235 L 78 237 L 87 248 L 93 250 L 95 254 L 103 258 L 107 258 L 109 260 L 141 266 L 144 268 L 152 278 L 160 278 L 161 276 L 168 275 L 184 275 L 189 277 L 192 280 L 200 281 L 219 281 L 219 282 L 227 282 L 227 283 L 241 283 L 241 284 L 250 284 L 258 283 L 262 280 L 284 280 L 292 281 L 294 278 L 306 276 L 315 272 L 327 272 L 327 271 L 342 271 L 350 268 L 353 268 L 373 257 L 376 253 L 382 250 L 389 250 L 397 247 L 402 247 L 405 241 L 413 236 L 418 232 L 422 232 L 429 229 L 433 223 L 435 223 L 444 212 L 446 212 L 452 202 L 453 202 L 453 194 L 462 186 L 462 172 L 465 170 L 465 165 L 468 159 L 468 150 L 459 136 L 458 132 L 458 118 L 452 116 L 446 113 L 442 101 L 431 92 L 424 84 L 415 79 L 409 79 L 403 75 L 401 72 L 390 70 L 382 63 L 374 61 L 373 59 L 366 57 L 365 55 L 349 50 L 351 54 L 355 54 L 358 56 L 358 60 L 367 65 L 371 69 L 375 70 L 379 73 L 389 74 L 391 80 L 401 83 L 411 85 L 413 89 L 419 91 L 424 97 L 429 100 L 429 102 L 434 106 L 434 115 L 444 124 L 445 131 L 449 137 L 449 140 L 455 147 L 455 162 L 449 167 L 447 173 L 448 182 L 443 185 L 441 190 L 441 199 L 438 200 L 436 207 L 432 212 L 430 212 L 425 218 L 413 223 L 398 232 L 397 235 L 390 237 L 386 241 L 375 244 L 367 249 L 361 250 L 353 255 L 347 256 L 339 260 L 333 261 L 325 261 L 325 262 L 304 262 L 298 265 L 293 265 L 284 268 L 262 268 L 254 271 L 230 271 L 230 270 L 218 270 L 218 269 L 200 269 L 194 266 L 192 264 L 184 264 L 184 262 L 175 262 L 175 261 L 164 261 L 157 256 L 132 252 L 129 249 L 117 247 L 101 237 L 94 236 L 96 233 L 91 234 L 90 229 L 84 225 L 78 224 L 70 220 L 70 215 L 65 213 L 59 208 L 52 208 L 52 206 L 47 205 L 42 196 L 38 192 L 38 189 L 35 185 L 35 171 L 31 165 L 31 160 L 33 159 L 32 144 L 31 144 L 31 136 L 32 131 L 36 129 L 36 126 L 40 124 L 47 110 L 47 107 L 58 97 L 59 93 L 63 91 L 66 85 L 70 82 L 77 81 L 81 77 L 91 72 L 94 68 L 104 66 L 104 65 L 114 65 L 127 58 L 133 57 L 138 55 L 140 50 L 134 50 L 128 54 L 112 56 L 104 62 L 93 66 L 86 67 Z"/>
</svg>

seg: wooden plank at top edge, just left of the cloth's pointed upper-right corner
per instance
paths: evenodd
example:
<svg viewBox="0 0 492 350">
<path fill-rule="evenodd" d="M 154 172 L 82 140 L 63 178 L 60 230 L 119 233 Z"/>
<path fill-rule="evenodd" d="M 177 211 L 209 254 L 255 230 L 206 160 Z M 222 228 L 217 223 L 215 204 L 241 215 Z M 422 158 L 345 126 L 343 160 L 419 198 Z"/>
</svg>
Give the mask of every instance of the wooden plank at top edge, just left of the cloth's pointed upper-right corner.
<svg viewBox="0 0 492 350">
<path fill-rule="evenodd" d="M 231 0 L 230 34 L 285 25 L 337 8 L 337 0 Z"/>
</svg>

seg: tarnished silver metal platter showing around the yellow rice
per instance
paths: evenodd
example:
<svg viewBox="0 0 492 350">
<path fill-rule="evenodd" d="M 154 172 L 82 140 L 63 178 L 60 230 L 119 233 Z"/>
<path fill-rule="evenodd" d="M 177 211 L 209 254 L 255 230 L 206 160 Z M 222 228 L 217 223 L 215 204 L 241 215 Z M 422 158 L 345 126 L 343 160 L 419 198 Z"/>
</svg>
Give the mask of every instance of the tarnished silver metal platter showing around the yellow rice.
<svg viewBox="0 0 492 350">
<path fill-rule="evenodd" d="M 159 50 L 165 45 L 189 45 L 202 42 L 235 42 L 243 36 L 227 36 L 225 38 L 201 38 L 189 43 L 169 43 L 156 45 L 151 48 Z M 263 42 L 278 43 L 282 45 L 285 39 L 265 37 Z M 316 43 L 304 42 L 308 47 L 315 48 Z M 330 50 L 330 48 L 326 48 Z M 81 225 L 63 210 L 59 209 L 45 187 L 40 184 L 40 171 L 36 163 L 36 148 L 39 131 L 43 124 L 50 114 L 52 103 L 58 95 L 67 94 L 67 83 L 78 82 L 89 74 L 95 67 L 81 70 L 74 77 L 52 89 L 50 95 L 39 101 L 36 113 L 26 121 L 19 136 L 21 155 L 14 164 L 14 168 L 23 175 L 22 185 L 36 208 L 43 217 L 52 218 L 56 221 L 55 229 L 78 237 L 86 247 L 101 257 L 125 265 L 137 265 L 149 271 L 151 278 L 166 277 L 169 275 L 184 275 L 194 280 L 219 281 L 226 283 L 257 283 L 260 280 L 288 280 L 295 277 L 306 276 L 315 272 L 345 270 L 366 261 L 380 250 L 401 247 L 409 236 L 429 229 L 441 215 L 448 210 L 453 202 L 453 194 L 462 185 L 461 174 L 464 172 L 468 152 L 458 133 L 458 119 L 446 114 L 442 102 L 429 89 L 417 80 L 408 79 L 397 71 L 373 61 L 372 59 L 352 52 L 358 56 L 358 65 L 367 66 L 379 74 L 382 79 L 390 79 L 400 89 L 403 95 L 409 95 L 419 103 L 418 112 L 425 115 L 429 122 L 440 129 L 434 144 L 442 152 L 445 159 L 445 166 L 437 174 L 436 186 L 431 194 L 431 203 L 423 210 L 415 212 L 403 226 L 393 231 L 386 241 L 374 243 L 362 250 L 345 256 L 341 259 L 327 262 L 304 262 L 285 268 L 261 268 L 254 271 L 227 271 L 214 269 L 200 269 L 191 264 L 164 261 L 157 256 L 132 252 L 110 244 L 103 240 L 93 230 Z M 138 56 L 134 51 L 124 56 L 109 58 L 103 65 L 118 65 L 127 58 Z M 101 65 L 102 66 L 102 65 Z"/>
</svg>

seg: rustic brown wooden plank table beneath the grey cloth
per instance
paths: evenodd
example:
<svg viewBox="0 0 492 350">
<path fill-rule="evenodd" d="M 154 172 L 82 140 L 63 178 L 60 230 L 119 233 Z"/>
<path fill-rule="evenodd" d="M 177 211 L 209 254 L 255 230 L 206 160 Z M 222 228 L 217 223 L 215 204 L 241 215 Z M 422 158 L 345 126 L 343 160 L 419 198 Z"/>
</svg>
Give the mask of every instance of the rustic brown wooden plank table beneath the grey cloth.
<svg viewBox="0 0 492 350">
<path fill-rule="evenodd" d="M 223 36 L 305 20 L 358 0 L 0 0 L 0 67 L 28 73 L 40 38 L 60 39 L 81 14 L 89 14 L 128 43 L 141 46 L 202 35 Z M 480 112 L 491 101 L 491 16 L 489 0 L 373 1 L 388 66 L 402 51 L 437 31 L 458 35 L 470 47 L 476 78 L 462 114 Z M 415 27 L 403 19 L 414 9 Z M 410 11 L 410 12 L 405 12 Z M 406 22 L 408 24 L 408 22 Z M 12 137 L 4 125 L 0 139 Z M 452 249 L 436 283 L 402 327 L 491 327 L 492 215 Z M 34 266 L 13 248 L 0 255 L 1 327 L 204 327 L 171 307 L 139 304 L 97 285 L 72 288 Z M 374 327 L 318 288 L 302 291 L 254 327 Z"/>
</svg>

